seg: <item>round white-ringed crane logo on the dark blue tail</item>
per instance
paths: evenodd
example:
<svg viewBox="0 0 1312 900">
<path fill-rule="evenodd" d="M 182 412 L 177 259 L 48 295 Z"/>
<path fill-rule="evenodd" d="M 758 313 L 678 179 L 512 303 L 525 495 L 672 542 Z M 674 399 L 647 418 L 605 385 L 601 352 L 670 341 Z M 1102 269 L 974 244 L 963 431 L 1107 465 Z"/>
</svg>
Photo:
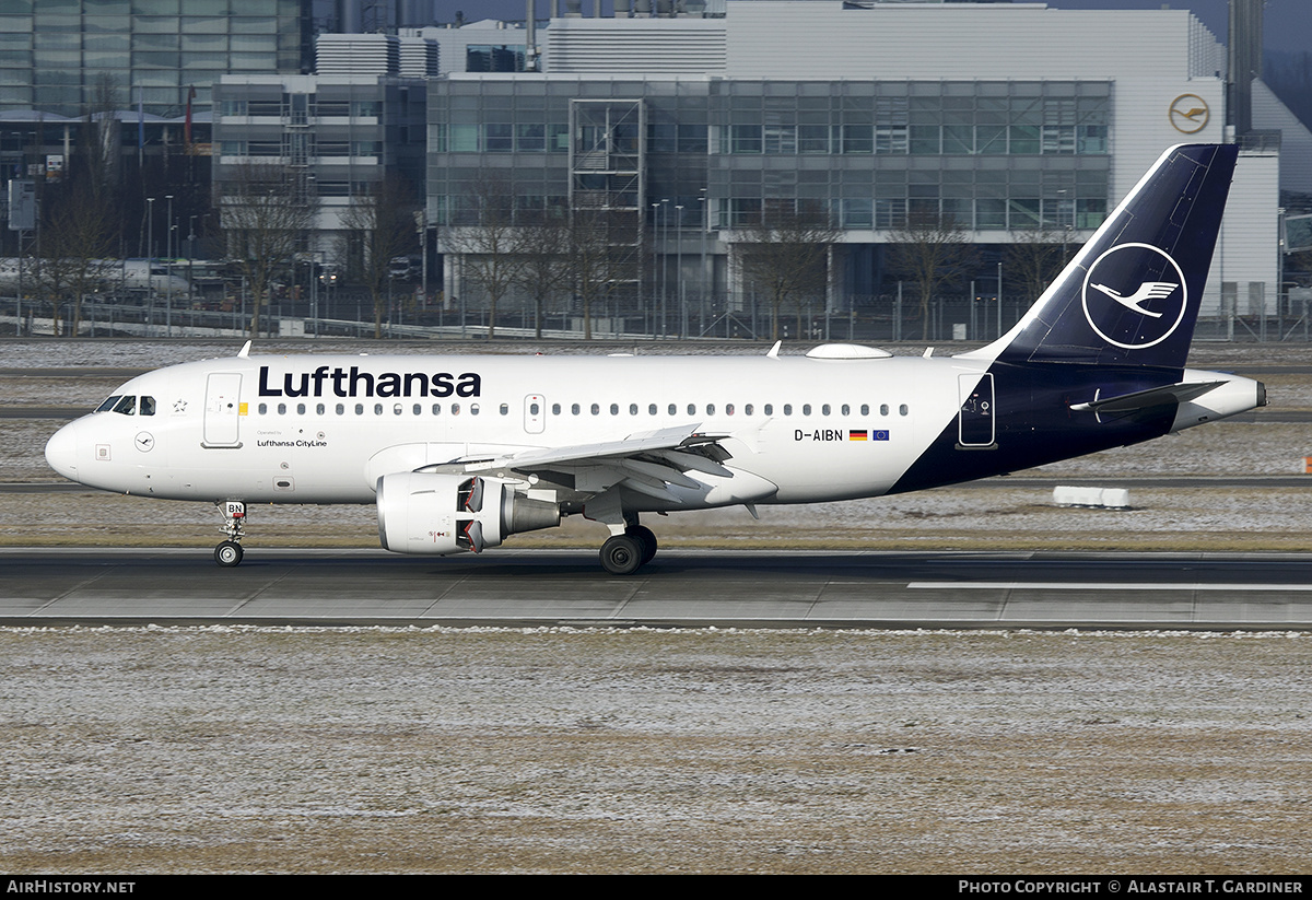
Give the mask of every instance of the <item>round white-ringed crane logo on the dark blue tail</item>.
<svg viewBox="0 0 1312 900">
<path fill-rule="evenodd" d="M 1185 273 L 1151 244 L 1119 244 L 1094 260 L 1084 278 L 1084 316 L 1113 346 L 1161 344 L 1185 319 Z"/>
</svg>

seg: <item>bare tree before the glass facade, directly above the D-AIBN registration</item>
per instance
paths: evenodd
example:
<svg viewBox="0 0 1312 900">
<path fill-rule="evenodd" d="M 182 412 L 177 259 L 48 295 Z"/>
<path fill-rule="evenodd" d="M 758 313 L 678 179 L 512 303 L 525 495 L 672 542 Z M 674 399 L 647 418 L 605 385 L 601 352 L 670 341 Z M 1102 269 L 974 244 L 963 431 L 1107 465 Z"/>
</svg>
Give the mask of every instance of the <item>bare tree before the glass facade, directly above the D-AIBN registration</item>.
<svg viewBox="0 0 1312 900">
<path fill-rule="evenodd" d="M 760 223 L 735 231 L 743 279 L 770 304 L 770 340 L 779 338 L 779 316 L 790 304 L 800 336 L 803 310 L 825 294 L 829 247 L 841 231 L 820 203 L 790 201 L 769 205 Z"/>
</svg>

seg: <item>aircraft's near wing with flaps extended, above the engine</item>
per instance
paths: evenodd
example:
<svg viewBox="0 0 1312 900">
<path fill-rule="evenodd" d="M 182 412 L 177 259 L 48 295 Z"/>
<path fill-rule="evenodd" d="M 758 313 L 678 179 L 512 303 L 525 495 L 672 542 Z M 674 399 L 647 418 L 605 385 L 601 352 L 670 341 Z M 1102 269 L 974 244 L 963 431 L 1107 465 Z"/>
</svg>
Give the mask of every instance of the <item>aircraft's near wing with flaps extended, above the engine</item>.
<svg viewBox="0 0 1312 900">
<path fill-rule="evenodd" d="M 703 488 L 705 484 L 686 475 L 701 472 L 718 478 L 732 478 L 733 472 L 720 463 L 731 454 L 720 441 L 727 433 L 698 430 L 699 425 L 664 428 L 657 432 L 631 434 L 621 441 L 580 443 L 564 447 L 530 449 L 501 457 L 455 459 L 428 470 L 457 468 L 464 472 L 491 472 L 512 470 L 518 474 L 538 474 L 546 478 L 567 472 L 576 488 L 586 493 L 600 493 L 623 485 L 653 497 L 672 497 L 669 487 Z"/>
</svg>

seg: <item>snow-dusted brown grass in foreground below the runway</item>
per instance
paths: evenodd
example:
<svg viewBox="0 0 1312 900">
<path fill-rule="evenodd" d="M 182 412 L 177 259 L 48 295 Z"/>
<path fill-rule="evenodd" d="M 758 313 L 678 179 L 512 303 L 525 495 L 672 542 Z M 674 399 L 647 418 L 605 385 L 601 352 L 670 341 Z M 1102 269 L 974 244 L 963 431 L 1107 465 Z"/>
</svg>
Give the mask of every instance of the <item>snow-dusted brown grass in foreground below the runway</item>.
<svg viewBox="0 0 1312 900">
<path fill-rule="evenodd" d="M 0 630 L 0 867 L 1302 871 L 1308 640 Z"/>
</svg>

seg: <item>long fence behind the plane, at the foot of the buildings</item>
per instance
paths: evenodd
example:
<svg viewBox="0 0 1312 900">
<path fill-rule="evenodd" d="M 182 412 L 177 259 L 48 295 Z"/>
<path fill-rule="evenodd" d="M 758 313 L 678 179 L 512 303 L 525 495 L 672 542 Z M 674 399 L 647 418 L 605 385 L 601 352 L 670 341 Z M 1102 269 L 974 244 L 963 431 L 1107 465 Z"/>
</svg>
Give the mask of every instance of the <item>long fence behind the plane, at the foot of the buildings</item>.
<svg viewBox="0 0 1312 900">
<path fill-rule="evenodd" d="M 1199 319 L 1195 340 L 1235 342 L 1278 342 L 1312 340 L 1307 291 L 1281 297 L 1269 315 L 1219 315 Z M 476 338 L 488 333 L 488 311 L 480 304 L 453 303 L 429 307 L 409 302 L 392 303 L 383 316 L 384 337 Z M 926 312 L 920 304 L 897 295 L 854 297 L 846 311 L 782 310 L 778 336 L 800 341 L 851 341 L 882 344 L 897 341 L 991 341 L 1005 333 L 1031 304 L 1029 297 L 935 298 Z M 770 310 L 761 298 L 748 297 L 729 306 L 720 298 L 690 298 L 684 303 L 656 302 L 648 308 L 635 304 L 600 303 L 592 310 L 592 333 L 598 340 L 702 338 L 769 340 Z M 62 311 L 67 317 L 70 310 Z M 373 337 L 373 304 L 365 295 L 321 299 L 319 316 L 308 303 L 273 303 L 261 311 L 260 333 L 282 337 Z M 531 337 L 538 323 L 531 308 L 522 304 L 499 310 L 495 329 L 501 337 Z M 163 298 L 140 302 L 87 302 L 83 304 L 80 336 L 140 337 L 239 337 L 247 333 L 249 316 L 244 308 L 169 308 Z M 543 315 L 547 337 L 581 338 L 584 321 L 577 308 L 555 308 Z M 0 298 L 0 336 L 51 335 L 52 311 L 49 303 L 13 297 Z"/>
</svg>

